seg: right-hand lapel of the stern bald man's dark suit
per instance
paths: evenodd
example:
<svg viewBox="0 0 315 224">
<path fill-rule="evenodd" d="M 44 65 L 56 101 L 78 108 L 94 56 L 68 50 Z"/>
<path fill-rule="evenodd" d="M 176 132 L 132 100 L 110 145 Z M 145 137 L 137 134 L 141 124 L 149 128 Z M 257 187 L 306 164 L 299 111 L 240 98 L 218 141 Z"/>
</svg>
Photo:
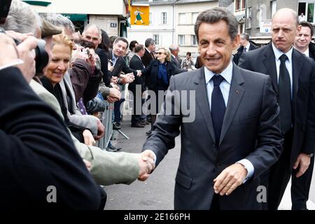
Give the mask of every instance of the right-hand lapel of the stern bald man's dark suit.
<svg viewBox="0 0 315 224">
<path fill-rule="evenodd" d="M 301 55 L 302 56 L 302 55 Z M 297 51 L 293 48 L 292 52 L 292 79 L 293 79 L 293 114 L 295 114 L 295 103 L 299 84 L 300 72 L 302 70 L 302 57 L 297 55 Z"/>
</svg>

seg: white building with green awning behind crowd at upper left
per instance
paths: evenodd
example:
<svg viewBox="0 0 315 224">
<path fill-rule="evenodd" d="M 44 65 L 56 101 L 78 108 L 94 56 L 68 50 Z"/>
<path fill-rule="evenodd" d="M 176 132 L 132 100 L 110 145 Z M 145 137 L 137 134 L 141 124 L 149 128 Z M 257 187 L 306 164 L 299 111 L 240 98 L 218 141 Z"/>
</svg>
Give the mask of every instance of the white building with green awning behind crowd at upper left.
<svg viewBox="0 0 315 224">
<path fill-rule="evenodd" d="M 109 36 L 127 36 L 127 0 L 25 1 L 38 13 L 62 13 L 81 31 L 89 23 L 98 25 Z M 110 6 L 110 7 L 109 7 Z"/>
</svg>

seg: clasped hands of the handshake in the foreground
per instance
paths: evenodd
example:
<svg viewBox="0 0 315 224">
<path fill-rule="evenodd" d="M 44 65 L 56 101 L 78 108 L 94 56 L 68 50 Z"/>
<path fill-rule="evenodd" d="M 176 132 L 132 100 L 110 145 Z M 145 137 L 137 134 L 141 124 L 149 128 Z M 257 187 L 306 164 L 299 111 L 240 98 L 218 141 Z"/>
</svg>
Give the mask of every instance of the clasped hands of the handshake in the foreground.
<svg viewBox="0 0 315 224">
<path fill-rule="evenodd" d="M 151 150 L 142 152 L 139 154 L 138 162 L 140 167 L 138 180 L 146 181 L 155 168 L 153 152 Z"/>
</svg>

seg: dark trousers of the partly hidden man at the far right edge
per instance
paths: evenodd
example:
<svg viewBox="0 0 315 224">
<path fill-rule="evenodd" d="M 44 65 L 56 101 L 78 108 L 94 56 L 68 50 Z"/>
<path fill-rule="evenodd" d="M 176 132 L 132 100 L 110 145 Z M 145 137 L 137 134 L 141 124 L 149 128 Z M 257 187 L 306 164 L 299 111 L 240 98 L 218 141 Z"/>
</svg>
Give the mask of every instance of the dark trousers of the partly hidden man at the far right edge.
<svg viewBox="0 0 315 224">
<path fill-rule="evenodd" d="M 293 170 L 292 173 L 292 185 L 291 185 L 291 201 L 292 210 L 303 210 L 307 209 L 307 200 L 309 200 L 309 188 L 311 186 L 311 176 L 314 169 L 314 156 L 311 158 L 311 164 L 309 169 L 300 176 L 295 177 L 298 172 L 298 167 Z"/>
</svg>

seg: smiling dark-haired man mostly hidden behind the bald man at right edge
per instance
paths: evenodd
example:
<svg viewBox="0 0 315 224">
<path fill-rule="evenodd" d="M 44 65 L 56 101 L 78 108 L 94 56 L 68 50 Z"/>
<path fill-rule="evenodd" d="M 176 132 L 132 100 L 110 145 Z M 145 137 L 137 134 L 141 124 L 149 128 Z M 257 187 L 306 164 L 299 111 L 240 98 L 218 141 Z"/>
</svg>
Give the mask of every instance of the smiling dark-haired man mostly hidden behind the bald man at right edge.
<svg viewBox="0 0 315 224">
<path fill-rule="evenodd" d="M 315 60 L 315 44 L 311 43 L 313 36 L 313 27 L 311 23 L 303 21 L 300 22 L 301 30 L 295 36 L 294 48 L 306 56 Z M 311 157 L 309 169 L 300 177 L 296 176 L 296 172 L 292 174 L 291 182 L 291 202 L 292 209 L 306 210 L 307 200 L 309 200 L 309 188 L 311 186 L 311 176 L 313 175 L 314 156 Z"/>
</svg>

